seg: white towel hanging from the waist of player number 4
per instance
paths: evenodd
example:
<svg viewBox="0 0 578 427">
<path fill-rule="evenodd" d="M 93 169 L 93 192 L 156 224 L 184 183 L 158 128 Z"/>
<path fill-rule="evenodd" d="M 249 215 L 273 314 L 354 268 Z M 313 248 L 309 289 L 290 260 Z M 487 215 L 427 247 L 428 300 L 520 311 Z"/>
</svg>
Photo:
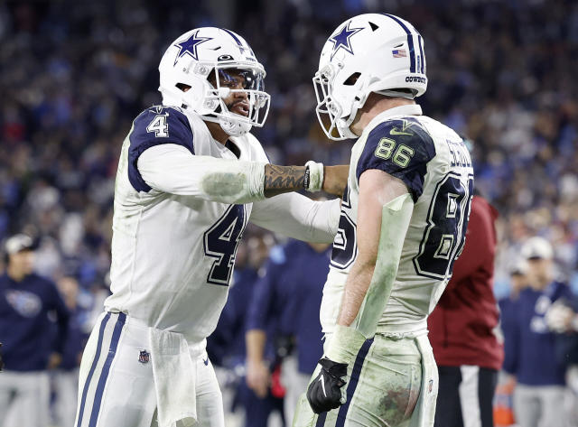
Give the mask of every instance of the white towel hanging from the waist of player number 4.
<svg viewBox="0 0 578 427">
<path fill-rule="evenodd" d="M 195 366 L 182 334 L 149 328 L 159 427 L 197 423 Z"/>
</svg>

